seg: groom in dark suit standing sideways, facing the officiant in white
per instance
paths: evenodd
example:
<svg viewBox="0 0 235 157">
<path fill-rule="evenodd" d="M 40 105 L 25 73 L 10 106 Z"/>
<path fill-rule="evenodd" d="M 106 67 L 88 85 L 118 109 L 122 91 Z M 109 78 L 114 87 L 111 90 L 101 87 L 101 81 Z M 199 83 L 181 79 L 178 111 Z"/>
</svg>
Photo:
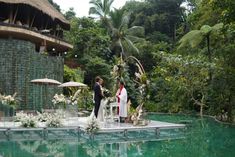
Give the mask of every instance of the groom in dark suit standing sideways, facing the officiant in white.
<svg viewBox="0 0 235 157">
<path fill-rule="evenodd" d="M 102 94 L 102 91 L 101 91 L 101 81 L 102 81 L 102 79 L 99 76 L 97 76 L 95 78 L 95 85 L 94 85 L 95 110 L 94 110 L 94 114 L 95 114 L 96 118 L 98 116 L 98 111 L 99 111 L 99 108 L 100 108 L 101 99 L 103 98 L 103 94 Z"/>
</svg>

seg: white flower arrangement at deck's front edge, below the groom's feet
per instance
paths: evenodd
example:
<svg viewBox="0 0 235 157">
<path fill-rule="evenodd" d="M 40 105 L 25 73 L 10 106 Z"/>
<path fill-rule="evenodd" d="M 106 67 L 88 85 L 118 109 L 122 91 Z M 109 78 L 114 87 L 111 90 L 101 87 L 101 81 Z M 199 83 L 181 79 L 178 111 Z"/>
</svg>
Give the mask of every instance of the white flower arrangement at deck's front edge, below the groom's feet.
<svg viewBox="0 0 235 157">
<path fill-rule="evenodd" d="M 99 123 L 95 116 L 92 116 L 88 119 L 87 126 L 85 128 L 86 133 L 88 134 L 94 134 L 100 129 Z"/>
</svg>

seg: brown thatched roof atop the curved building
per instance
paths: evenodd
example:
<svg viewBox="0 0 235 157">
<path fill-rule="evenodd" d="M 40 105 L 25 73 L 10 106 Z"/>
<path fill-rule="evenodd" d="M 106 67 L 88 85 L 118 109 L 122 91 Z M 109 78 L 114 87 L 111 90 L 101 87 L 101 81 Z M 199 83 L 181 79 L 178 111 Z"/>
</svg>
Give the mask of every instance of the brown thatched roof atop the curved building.
<svg viewBox="0 0 235 157">
<path fill-rule="evenodd" d="M 48 0 L 0 0 L 0 3 L 6 4 L 25 4 L 29 5 L 44 14 L 47 14 L 53 20 L 59 20 L 66 28 L 70 27 L 69 22 L 64 18 L 64 16 L 58 12 Z"/>
</svg>

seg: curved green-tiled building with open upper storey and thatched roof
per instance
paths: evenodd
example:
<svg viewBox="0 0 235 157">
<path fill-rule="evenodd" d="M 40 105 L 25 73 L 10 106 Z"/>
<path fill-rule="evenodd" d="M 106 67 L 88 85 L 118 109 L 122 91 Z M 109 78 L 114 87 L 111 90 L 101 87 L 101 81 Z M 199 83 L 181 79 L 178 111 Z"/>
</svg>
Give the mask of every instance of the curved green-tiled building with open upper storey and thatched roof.
<svg viewBox="0 0 235 157">
<path fill-rule="evenodd" d="M 73 48 L 63 39 L 69 29 L 69 22 L 47 0 L 0 0 L 0 93 L 17 93 L 19 109 L 51 108 L 58 88 L 30 81 L 63 81 L 61 56 Z"/>
</svg>

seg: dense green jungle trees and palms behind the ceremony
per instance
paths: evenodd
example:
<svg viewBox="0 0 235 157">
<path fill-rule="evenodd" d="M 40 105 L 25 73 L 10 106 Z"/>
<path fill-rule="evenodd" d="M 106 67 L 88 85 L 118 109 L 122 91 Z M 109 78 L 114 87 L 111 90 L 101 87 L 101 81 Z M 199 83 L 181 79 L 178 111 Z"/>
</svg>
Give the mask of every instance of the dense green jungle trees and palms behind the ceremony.
<svg viewBox="0 0 235 157">
<path fill-rule="evenodd" d="M 140 82 L 148 80 L 142 96 L 148 111 L 209 114 L 234 121 L 233 0 L 128 1 L 119 9 L 112 8 L 113 2 L 91 0 L 95 19 L 70 18 L 66 37 L 75 48 L 66 64 L 84 71 L 85 83 L 92 87 L 100 75 L 105 87 L 115 89 L 113 80 L 121 76 L 132 105 L 138 106 Z M 135 61 L 127 59 L 130 55 L 142 63 L 144 75 L 139 75 Z"/>
</svg>

